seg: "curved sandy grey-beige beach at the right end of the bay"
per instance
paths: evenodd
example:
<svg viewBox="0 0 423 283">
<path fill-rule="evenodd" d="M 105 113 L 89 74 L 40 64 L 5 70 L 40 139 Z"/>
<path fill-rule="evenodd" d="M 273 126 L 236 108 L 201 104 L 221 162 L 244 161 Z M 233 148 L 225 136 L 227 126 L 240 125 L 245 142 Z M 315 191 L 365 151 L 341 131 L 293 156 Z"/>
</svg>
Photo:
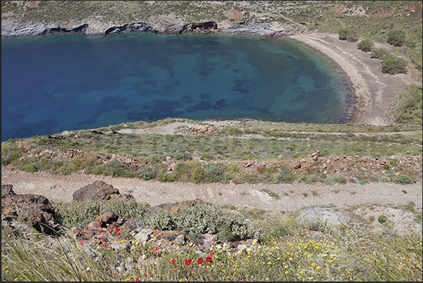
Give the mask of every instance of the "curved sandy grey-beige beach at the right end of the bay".
<svg viewBox="0 0 423 283">
<path fill-rule="evenodd" d="M 382 73 L 382 63 L 379 59 L 370 58 L 370 52 L 359 50 L 357 43 L 341 41 L 337 34 L 304 33 L 289 38 L 307 44 L 328 56 L 347 73 L 354 86 L 357 102 L 353 123 L 373 126 L 391 124 L 385 115 L 389 103 L 396 93 L 403 91 L 405 84 L 417 82 L 412 70 L 408 74 Z M 394 50 L 389 44 L 375 43 L 375 47 Z"/>
</svg>

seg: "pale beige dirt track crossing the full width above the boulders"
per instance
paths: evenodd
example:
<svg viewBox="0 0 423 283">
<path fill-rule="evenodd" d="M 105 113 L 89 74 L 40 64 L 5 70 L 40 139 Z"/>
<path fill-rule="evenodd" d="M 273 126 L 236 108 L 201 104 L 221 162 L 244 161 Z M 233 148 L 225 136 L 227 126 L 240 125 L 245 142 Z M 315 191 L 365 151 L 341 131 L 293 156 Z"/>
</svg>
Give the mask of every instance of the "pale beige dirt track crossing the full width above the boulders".
<svg viewBox="0 0 423 283">
<path fill-rule="evenodd" d="M 365 185 L 305 185 L 305 184 L 193 184 L 161 183 L 137 178 L 113 178 L 73 173 L 72 175 L 48 172 L 27 173 L 1 169 L 1 184 L 12 184 L 17 194 L 43 195 L 49 200 L 72 202 L 72 194 L 80 187 L 103 180 L 120 193 L 131 194 L 137 202 L 157 204 L 202 199 L 218 205 L 234 205 L 238 209 L 263 209 L 269 212 L 293 211 L 310 206 L 337 208 L 367 206 L 371 204 L 408 204 L 422 206 L 422 183 L 396 185 L 394 183 L 370 183 Z M 269 196 L 276 192 L 280 199 Z M 406 192 L 406 193 L 405 193 Z M 304 196 L 307 194 L 307 197 Z"/>
</svg>

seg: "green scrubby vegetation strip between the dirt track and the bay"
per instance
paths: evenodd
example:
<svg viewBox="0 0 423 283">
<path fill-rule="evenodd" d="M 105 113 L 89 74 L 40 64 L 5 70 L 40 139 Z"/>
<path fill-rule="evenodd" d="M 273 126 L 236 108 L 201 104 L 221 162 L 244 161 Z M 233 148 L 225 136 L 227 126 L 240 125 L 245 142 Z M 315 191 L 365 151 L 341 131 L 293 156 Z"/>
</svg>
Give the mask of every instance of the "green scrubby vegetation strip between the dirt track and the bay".
<svg viewBox="0 0 423 283">
<path fill-rule="evenodd" d="M 421 88 L 417 88 L 421 91 Z M 418 98 L 419 97 L 419 98 Z M 398 105 L 392 106 L 392 113 L 404 111 L 417 113 L 421 111 L 420 99 L 413 95 L 410 100 L 398 98 Z M 411 103 L 413 106 L 410 108 Z M 407 107 L 405 107 L 407 106 Z M 415 107 L 415 108 L 413 108 Z M 418 108 L 420 107 L 420 108 Z M 394 111 L 395 109 L 395 111 Z M 405 116 L 406 117 L 406 116 Z M 154 122 L 163 126 L 170 121 L 196 121 L 182 119 L 164 119 Z M 421 118 L 413 120 L 418 124 Z M 138 129 L 148 128 L 152 123 L 135 122 Z M 375 166 L 370 171 L 363 171 L 360 180 L 356 177 L 356 168 L 326 164 L 325 160 L 337 156 L 357 156 L 380 158 L 407 154 L 419 156 L 422 141 L 419 126 L 396 124 L 390 126 L 370 127 L 357 124 L 288 124 L 283 122 L 253 121 L 241 122 L 244 129 L 267 131 L 266 138 L 228 138 L 223 134 L 227 127 L 222 121 L 222 131 L 215 136 L 205 134 L 192 135 L 187 127 L 181 127 L 174 135 L 145 133 L 142 135 L 126 133 L 106 133 L 94 135 L 88 130 L 81 130 L 79 138 L 74 134 L 61 140 L 34 136 L 26 139 L 12 139 L 2 143 L 2 160 L 4 166 L 22 171 L 53 171 L 68 175 L 88 173 L 104 176 L 121 176 L 125 178 L 142 178 L 143 180 L 160 180 L 162 182 L 192 183 L 347 183 L 347 182 L 394 182 L 397 172 L 421 178 L 418 159 L 408 164 L 410 159 L 396 171 L 387 166 Z M 109 129 L 115 126 L 110 126 Z M 271 129 L 271 131 L 269 131 Z M 107 129 L 103 129 L 107 132 Z M 302 131 L 289 140 L 284 138 L 292 131 Z M 414 135 L 402 135 L 398 132 L 416 131 Z M 361 133 L 365 133 L 362 135 Z M 20 149 L 19 143 L 25 141 L 27 149 Z M 136 145 L 136 146 L 135 146 Z M 252 150 L 253 149 L 253 150 Z M 311 162 L 308 155 L 320 150 L 319 162 Z M 67 158 L 66 152 L 79 152 L 74 158 Z M 39 154 L 43 152 L 43 154 Z M 48 153 L 50 152 L 50 153 Z M 58 154 L 60 159 L 51 160 L 50 154 Z M 253 152 L 251 158 L 243 158 Z M 39 155 L 37 155 L 39 154 Z M 123 154 L 123 155 L 122 155 Z M 204 160 L 203 156 L 213 156 Z M 38 157 L 37 157 L 38 156 Z M 107 159 L 107 158 L 108 159 Z M 132 160 L 133 164 L 125 163 Z M 293 160 L 307 159 L 307 165 L 295 169 Z M 245 163 L 257 166 L 245 167 Z M 7 165 L 5 165 L 7 164 Z M 378 164 L 375 159 L 375 164 Z M 353 165 L 353 164 L 351 164 Z M 417 166 L 417 167 L 416 167 Z M 382 171 L 384 175 L 382 175 Z"/>
</svg>

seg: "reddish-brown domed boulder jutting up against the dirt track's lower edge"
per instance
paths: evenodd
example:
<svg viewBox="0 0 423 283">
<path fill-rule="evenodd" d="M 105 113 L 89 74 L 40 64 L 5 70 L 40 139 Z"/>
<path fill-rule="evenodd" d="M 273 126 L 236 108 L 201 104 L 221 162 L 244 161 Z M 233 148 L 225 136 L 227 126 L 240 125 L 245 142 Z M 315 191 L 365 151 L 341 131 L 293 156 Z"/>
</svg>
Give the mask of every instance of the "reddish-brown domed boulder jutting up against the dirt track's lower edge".
<svg viewBox="0 0 423 283">
<path fill-rule="evenodd" d="M 81 187 L 76 190 L 72 195 L 72 200 L 86 201 L 86 200 L 98 200 L 98 199 L 114 199 L 116 197 L 124 197 L 126 199 L 133 199 L 132 195 L 121 195 L 119 190 L 114 188 L 113 185 L 109 185 L 102 180 L 96 180 L 94 183 Z"/>
</svg>

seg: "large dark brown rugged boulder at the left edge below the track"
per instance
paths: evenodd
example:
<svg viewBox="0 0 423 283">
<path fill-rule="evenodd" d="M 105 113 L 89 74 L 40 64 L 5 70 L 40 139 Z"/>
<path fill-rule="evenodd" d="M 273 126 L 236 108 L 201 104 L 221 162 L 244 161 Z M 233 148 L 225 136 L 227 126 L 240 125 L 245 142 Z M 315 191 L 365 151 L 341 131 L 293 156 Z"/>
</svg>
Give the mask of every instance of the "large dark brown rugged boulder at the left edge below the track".
<svg viewBox="0 0 423 283">
<path fill-rule="evenodd" d="M 20 220 L 37 231 L 53 233 L 55 211 L 50 201 L 42 195 L 11 194 L 1 199 L 1 219 Z"/>
</svg>

